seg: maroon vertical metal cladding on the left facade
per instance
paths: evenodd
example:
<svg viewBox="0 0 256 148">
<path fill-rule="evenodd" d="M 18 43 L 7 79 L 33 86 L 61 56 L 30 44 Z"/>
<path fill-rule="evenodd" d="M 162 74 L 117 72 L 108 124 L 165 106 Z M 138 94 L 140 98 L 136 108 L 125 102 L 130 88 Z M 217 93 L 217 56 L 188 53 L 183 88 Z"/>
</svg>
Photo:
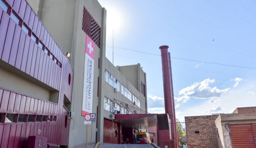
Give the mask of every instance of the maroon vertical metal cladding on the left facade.
<svg viewBox="0 0 256 148">
<path fill-rule="evenodd" d="M 48 137 L 48 143 L 68 145 L 68 111 L 63 107 L 64 95 L 71 102 L 73 70 L 65 54 L 50 36 L 42 22 L 26 0 L 4 0 L 9 5 L 6 13 L 0 7 L 0 62 L 8 65 L 12 72 L 25 75 L 28 81 L 59 91 L 58 103 L 33 98 L 22 93 L 0 88 L 0 113 L 34 114 L 56 116 L 56 121 L 0 123 L 0 147 L 20 148 L 26 146 L 28 136 Z M 26 34 L 21 25 L 10 18 L 14 11 L 28 29 L 44 44 L 61 63 L 55 63 L 44 50 Z M 1 66 L 1 65 L 0 65 Z M 70 77 L 69 77 L 70 75 Z M 70 80 L 70 82 L 69 82 Z"/>
</svg>

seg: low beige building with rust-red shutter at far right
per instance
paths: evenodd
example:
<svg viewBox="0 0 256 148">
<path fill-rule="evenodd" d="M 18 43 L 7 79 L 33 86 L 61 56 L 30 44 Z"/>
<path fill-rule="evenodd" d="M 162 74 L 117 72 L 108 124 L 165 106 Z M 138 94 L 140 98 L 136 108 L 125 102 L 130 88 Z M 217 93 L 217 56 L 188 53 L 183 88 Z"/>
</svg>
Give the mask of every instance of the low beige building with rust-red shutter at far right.
<svg viewBox="0 0 256 148">
<path fill-rule="evenodd" d="M 256 147 L 256 113 L 220 114 L 215 124 L 218 129 L 219 148 Z"/>
</svg>

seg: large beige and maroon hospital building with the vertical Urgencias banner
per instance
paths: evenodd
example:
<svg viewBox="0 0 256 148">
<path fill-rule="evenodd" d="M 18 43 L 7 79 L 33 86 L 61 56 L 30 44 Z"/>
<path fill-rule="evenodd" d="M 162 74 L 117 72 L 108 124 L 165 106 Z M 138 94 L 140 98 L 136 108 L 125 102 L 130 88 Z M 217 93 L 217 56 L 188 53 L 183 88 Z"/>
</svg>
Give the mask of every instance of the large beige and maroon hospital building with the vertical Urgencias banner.
<svg viewBox="0 0 256 148">
<path fill-rule="evenodd" d="M 39 102 L 40 105 L 41 102 L 46 102 L 42 103 L 42 108 L 40 106 L 42 111 L 38 109 L 38 114 L 24 114 L 23 112 L 23 114 L 19 115 L 17 113 L 17 115 L 12 116 L 14 109 L 10 109 L 12 112 L 8 112 L 7 109 L 6 111 L 0 110 L 0 125 L 3 124 L 6 127 L 1 131 L 10 130 L 10 124 L 6 126 L 6 122 L 3 120 L 6 116 L 10 121 L 11 117 L 16 118 L 16 120 L 13 120 L 14 126 L 19 121 L 18 118 L 24 116 L 26 118 L 26 121 L 24 120 L 25 123 L 21 123 L 18 126 L 22 126 L 22 133 L 26 131 L 26 129 L 23 129 L 25 125 L 28 125 L 27 130 L 30 130 L 31 124 L 27 123 L 27 121 L 30 118 L 28 116 L 32 115 L 34 119 L 31 122 L 35 122 L 32 125 L 34 126 L 35 124 L 37 127 L 31 134 L 24 132 L 26 139 L 19 138 L 24 144 L 28 136 L 32 135 L 46 137 L 48 142 L 50 141 L 52 144 L 70 148 L 85 144 L 86 138 L 88 138 L 88 142 L 92 143 L 121 143 L 121 140 L 125 138 L 125 135 L 122 134 L 125 132 L 121 132 L 121 130 L 129 127 L 115 122 L 114 114 L 147 112 L 146 73 L 144 73 L 139 63 L 116 67 L 106 58 L 106 9 L 102 8 L 97 0 L 17 0 L 15 2 L 0 0 L 0 4 L 0 16 L 2 14 L 4 16 L 3 18 L 1 17 L 1 31 L 5 24 L 8 25 L 10 20 L 14 24 L 10 26 L 14 26 L 12 28 L 13 32 L 14 30 L 19 30 L 19 34 L 21 32 L 28 40 L 25 42 L 25 47 L 23 45 L 24 53 L 28 51 L 28 55 L 27 53 L 24 54 L 28 57 L 27 59 L 29 59 L 30 55 L 32 60 L 35 59 L 37 55 L 33 51 L 40 49 L 38 54 L 41 54 L 42 62 L 38 63 L 37 60 L 33 62 L 22 59 L 24 63 L 29 63 L 29 65 L 30 63 L 38 63 L 39 66 L 43 67 L 43 70 L 40 69 L 40 77 L 38 76 L 38 78 L 34 79 L 29 73 L 26 74 L 26 66 L 28 67 L 28 64 L 22 65 L 25 70 L 17 70 L 13 69 L 11 63 L 5 67 L 6 63 L 4 63 L 4 59 L 1 59 L 0 87 L 4 89 L 0 89 L 0 95 L 4 94 L 4 97 L 13 98 L 13 94 L 16 96 L 16 93 L 7 91 L 11 90 L 27 95 L 29 100 L 34 97 L 38 101 L 35 109 L 39 107 Z M 6 18 L 8 18 L 8 21 Z M 16 24 L 14 21 L 17 20 L 20 22 Z M 6 32 L 7 28 L 5 35 L 8 35 L 6 38 L 10 38 L 10 33 Z M 12 34 L 11 37 L 16 37 L 16 34 L 18 33 Z M 17 41 L 25 38 L 19 37 L 16 38 Z M 2 41 L 2 32 L 0 38 L 0 41 Z M 90 39 L 93 43 L 91 44 L 90 42 L 89 45 L 88 41 Z M 10 41 L 6 41 L 12 43 L 12 40 L 10 38 Z M 0 44 L 1 49 L 3 49 L 2 45 Z M 26 45 L 31 46 L 26 47 Z M 34 47 L 33 50 L 32 45 Z M 92 47 L 92 45 L 95 46 Z M 20 45 L 20 47 L 22 46 Z M 84 97 L 84 88 L 86 86 L 84 77 L 88 75 L 85 68 L 87 66 L 85 60 L 87 47 L 90 49 L 90 53 L 91 51 L 94 53 L 94 65 L 90 67 L 90 73 L 93 73 L 90 85 L 93 86 L 90 91 L 92 93 L 90 102 L 92 111 L 90 113 L 96 114 L 96 122 L 88 125 L 88 131 L 86 131 L 87 125 L 84 122 L 85 117 L 82 116 L 83 99 L 86 98 Z M 12 52 L 13 49 L 6 46 L 3 54 L 6 54 L 6 51 Z M 30 51 L 32 54 L 30 54 Z M 22 53 L 23 51 L 21 55 Z M 68 54 L 70 54 L 69 58 L 66 57 Z M 50 63 L 53 62 L 53 64 L 51 63 L 52 65 L 55 64 L 52 66 L 54 74 L 50 74 L 54 75 L 54 78 L 56 77 L 56 80 L 53 79 L 50 84 L 47 77 L 45 79 L 43 77 L 44 71 L 47 74 L 49 61 Z M 36 70 L 38 71 L 38 69 Z M 42 79 L 41 75 L 43 75 Z M 20 84 L 23 84 L 23 86 Z M 22 96 L 17 96 L 21 98 L 22 103 L 24 102 L 25 111 L 27 108 L 29 109 L 30 104 L 26 104 L 26 100 L 24 101 Z M 15 101 L 11 102 L 13 103 L 11 106 L 14 107 Z M 8 101 L 6 103 L 8 104 Z M 42 114 L 44 110 L 46 113 Z M 52 112 L 49 113 L 48 110 Z M 70 116 L 68 118 L 68 114 L 72 112 L 74 112 L 74 117 Z M 37 121 L 36 116 L 40 117 L 40 122 Z M 48 116 L 50 117 L 49 121 L 47 121 Z M 41 126 L 41 122 L 43 122 L 44 126 Z M 48 124 L 50 124 L 50 128 Z M 38 126 L 45 128 L 42 129 Z M 110 128 L 112 129 L 111 132 Z M 136 130 L 139 129 L 132 129 L 131 131 L 136 132 Z M 15 136 L 16 131 L 14 130 L 11 133 Z M 88 136 L 86 136 L 86 133 L 88 133 Z M 12 135 L 10 137 L 13 137 Z"/>
</svg>

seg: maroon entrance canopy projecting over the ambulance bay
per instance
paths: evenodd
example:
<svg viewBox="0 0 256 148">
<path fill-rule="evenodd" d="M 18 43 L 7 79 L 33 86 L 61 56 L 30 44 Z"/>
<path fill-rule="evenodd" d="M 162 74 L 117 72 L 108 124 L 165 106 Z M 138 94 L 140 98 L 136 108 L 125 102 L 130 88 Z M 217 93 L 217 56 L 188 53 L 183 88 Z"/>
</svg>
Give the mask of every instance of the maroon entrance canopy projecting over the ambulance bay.
<svg viewBox="0 0 256 148">
<path fill-rule="evenodd" d="M 115 114 L 115 121 L 134 129 L 156 127 L 158 114 Z"/>
</svg>

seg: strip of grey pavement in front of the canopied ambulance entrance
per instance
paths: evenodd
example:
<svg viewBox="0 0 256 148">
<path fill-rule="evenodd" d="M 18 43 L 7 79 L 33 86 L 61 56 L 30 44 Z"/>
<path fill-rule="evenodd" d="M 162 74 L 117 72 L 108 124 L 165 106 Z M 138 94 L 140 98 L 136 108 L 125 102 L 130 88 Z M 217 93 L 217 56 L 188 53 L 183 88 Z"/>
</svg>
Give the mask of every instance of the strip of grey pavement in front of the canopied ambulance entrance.
<svg viewBox="0 0 256 148">
<path fill-rule="evenodd" d="M 99 148 L 153 148 L 151 144 L 100 144 Z"/>
</svg>

